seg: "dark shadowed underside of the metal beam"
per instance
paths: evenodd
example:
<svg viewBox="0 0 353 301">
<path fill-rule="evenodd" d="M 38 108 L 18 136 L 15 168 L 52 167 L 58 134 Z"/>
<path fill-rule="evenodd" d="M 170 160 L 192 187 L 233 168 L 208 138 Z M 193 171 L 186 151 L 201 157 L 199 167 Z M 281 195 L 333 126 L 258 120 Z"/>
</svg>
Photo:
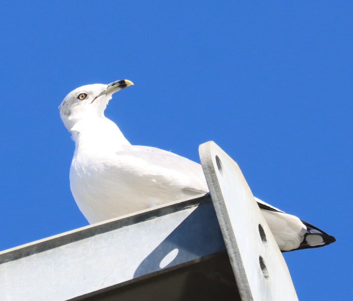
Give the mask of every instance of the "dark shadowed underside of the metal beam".
<svg viewBox="0 0 353 301">
<path fill-rule="evenodd" d="M 241 301 L 226 251 L 70 301 Z"/>
</svg>

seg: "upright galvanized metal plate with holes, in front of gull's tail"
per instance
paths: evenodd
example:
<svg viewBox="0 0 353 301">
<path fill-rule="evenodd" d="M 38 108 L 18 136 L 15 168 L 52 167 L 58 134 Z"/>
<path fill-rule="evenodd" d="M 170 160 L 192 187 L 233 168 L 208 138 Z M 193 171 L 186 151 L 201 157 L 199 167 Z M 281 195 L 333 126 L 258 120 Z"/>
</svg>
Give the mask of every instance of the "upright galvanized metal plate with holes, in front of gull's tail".
<svg viewBox="0 0 353 301">
<path fill-rule="evenodd" d="M 238 164 L 213 141 L 201 165 L 242 301 L 298 300 L 286 262 Z"/>
</svg>

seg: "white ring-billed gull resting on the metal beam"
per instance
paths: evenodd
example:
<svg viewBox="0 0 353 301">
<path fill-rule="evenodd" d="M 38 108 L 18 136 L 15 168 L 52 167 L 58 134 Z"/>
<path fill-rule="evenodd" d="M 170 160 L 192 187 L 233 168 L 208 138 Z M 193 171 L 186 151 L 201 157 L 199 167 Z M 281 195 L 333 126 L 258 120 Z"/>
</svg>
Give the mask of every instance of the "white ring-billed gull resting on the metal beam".
<svg viewBox="0 0 353 301">
<path fill-rule="evenodd" d="M 208 192 L 200 164 L 154 147 L 131 145 L 104 116 L 113 93 L 129 80 L 79 87 L 59 106 L 76 148 L 70 168 L 72 195 L 89 223 Z M 334 242 L 318 228 L 256 198 L 282 251 Z"/>
</svg>

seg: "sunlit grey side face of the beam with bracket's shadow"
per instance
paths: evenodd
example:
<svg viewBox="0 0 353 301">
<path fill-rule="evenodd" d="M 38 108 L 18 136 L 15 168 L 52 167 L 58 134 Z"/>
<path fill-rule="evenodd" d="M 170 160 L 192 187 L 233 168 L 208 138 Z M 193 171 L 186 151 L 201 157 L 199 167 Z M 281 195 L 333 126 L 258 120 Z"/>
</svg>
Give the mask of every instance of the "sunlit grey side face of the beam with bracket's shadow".
<svg viewBox="0 0 353 301">
<path fill-rule="evenodd" d="M 222 250 L 202 196 L 1 252 L 0 300 L 68 300 Z"/>
</svg>

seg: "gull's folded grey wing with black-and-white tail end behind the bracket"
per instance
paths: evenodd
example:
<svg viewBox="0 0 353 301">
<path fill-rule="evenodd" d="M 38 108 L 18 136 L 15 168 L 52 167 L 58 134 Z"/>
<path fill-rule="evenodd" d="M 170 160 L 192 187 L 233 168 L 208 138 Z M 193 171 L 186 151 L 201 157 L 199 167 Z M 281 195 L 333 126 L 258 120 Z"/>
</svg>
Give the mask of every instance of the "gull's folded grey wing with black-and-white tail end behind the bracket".
<svg viewBox="0 0 353 301">
<path fill-rule="evenodd" d="M 161 176 L 173 182 L 174 188 L 189 192 L 190 196 L 209 192 L 200 164 L 172 152 L 146 146 L 126 145 L 118 155 L 132 156 L 142 160 L 138 168 L 154 176 Z M 255 197 L 272 234 L 281 251 L 329 245 L 335 241 L 333 236 L 300 220 L 297 216 L 287 214 Z"/>
</svg>

